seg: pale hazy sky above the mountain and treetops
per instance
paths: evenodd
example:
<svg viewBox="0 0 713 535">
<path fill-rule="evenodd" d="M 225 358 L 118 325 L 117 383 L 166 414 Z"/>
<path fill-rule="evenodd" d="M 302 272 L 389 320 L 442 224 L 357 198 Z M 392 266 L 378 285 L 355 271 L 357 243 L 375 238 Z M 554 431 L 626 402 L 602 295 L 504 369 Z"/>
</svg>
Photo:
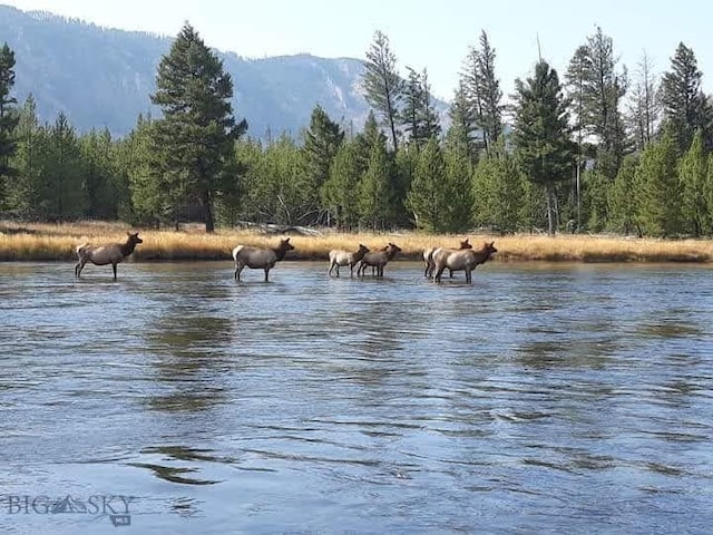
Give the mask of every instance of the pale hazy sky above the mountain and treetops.
<svg viewBox="0 0 713 535">
<path fill-rule="evenodd" d="M 0 0 L 99 26 L 175 36 L 189 21 L 205 42 L 244 57 L 310 52 L 363 58 L 375 30 L 390 39 L 401 72 L 428 69 L 432 91 L 450 99 L 480 31 L 496 48 L 506 94 L 538 57 L 560 76 L 577 46 L 600 26 L 629 71 L 646 51 L 668 70 L 678 42 L 693 49 L 703 87 L 713 88 L 713 3 L 706 0 Z M 240 80 L 235 80 L 240 85 Z"/>
</svg>

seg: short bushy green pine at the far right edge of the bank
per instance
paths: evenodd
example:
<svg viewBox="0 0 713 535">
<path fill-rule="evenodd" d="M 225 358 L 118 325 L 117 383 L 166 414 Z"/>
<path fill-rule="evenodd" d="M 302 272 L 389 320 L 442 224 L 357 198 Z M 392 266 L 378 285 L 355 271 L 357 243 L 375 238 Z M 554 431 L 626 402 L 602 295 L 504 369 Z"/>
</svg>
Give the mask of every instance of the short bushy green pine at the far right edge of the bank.
<svg viewBox="0 0 713 535">
<path fill-rule="evenodd" d="M 686 231 L 696 237 L 709 228 L 711 222 L 705 198 L 707 160 L 703 148 L 703 132 L 699 129 L 693 136 L 691 148 L 683 155 L 678 165 L 681 210 Z"/>
</svg>

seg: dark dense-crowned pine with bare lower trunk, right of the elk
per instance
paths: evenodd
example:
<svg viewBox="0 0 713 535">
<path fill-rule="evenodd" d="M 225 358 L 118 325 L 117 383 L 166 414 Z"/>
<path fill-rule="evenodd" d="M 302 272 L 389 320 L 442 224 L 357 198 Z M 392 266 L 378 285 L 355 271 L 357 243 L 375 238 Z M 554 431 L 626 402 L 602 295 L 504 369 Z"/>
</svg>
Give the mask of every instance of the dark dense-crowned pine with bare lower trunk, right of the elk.
<svg viewBox="0 0 713 535">
<path fill-rule="evenodd" d="M 536 65 L 533 78 L 516 80 L 512 140 L 522 172 L 544 186 L 549 234 L 557 227 L 557 184 L 569 178 L 573 168 L 567 104 L 557 71 L 546 61 Z"/>
</svg>

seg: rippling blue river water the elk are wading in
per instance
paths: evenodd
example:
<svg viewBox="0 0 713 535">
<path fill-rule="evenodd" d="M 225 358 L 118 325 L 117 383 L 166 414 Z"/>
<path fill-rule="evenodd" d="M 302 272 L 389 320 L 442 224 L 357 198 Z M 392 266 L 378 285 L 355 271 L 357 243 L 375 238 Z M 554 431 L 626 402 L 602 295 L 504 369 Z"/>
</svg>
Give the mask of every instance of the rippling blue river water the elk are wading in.
<svg viewBox="0 0 713 535">
<path fill-rule="evenodd" d="M 710 268 L 110 272 L 0 264 L 2 533 L 713 525 Z"/>
</svg>

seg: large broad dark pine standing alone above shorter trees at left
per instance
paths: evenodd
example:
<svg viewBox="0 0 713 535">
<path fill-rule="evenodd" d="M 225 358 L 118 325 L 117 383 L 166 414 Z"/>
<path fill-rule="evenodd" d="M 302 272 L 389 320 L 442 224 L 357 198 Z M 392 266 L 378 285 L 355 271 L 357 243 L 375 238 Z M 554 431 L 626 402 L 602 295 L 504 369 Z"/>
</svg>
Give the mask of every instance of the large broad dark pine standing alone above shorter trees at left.
<svg viewBox="0 0 713 535">
<path fill-rule="evenodd" d="M 234 142 L 247 129 L 235 124 L 231 98 L 233 80 L 223 62 L 186 23 L 156 76 L 152 101 L 163 110 L 156 121 L 159 165 L 175 194 L 173 217 L 193 204 L 203 213 L 206 232 L 213 232 L 214 202 L 225 178 Z M 173 196 L 173 195 L 172 195 Z"/>
</svg>

